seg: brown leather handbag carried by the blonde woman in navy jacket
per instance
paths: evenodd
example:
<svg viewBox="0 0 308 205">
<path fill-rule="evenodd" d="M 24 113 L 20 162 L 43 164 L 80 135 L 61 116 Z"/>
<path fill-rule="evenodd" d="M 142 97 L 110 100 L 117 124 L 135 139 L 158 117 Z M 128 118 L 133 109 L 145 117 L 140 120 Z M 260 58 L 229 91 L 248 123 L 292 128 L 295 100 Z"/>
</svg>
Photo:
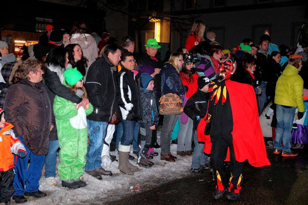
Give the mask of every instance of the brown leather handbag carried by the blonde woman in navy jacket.
<svg viewBox="0 0 308 205">
<path fill-rule="evenodd" d="M 177 115 L 183 113 L 183 103 L 180 97 L 173 93 L 168 93 L 160 97 L 159 114 Z"/>
</svg>

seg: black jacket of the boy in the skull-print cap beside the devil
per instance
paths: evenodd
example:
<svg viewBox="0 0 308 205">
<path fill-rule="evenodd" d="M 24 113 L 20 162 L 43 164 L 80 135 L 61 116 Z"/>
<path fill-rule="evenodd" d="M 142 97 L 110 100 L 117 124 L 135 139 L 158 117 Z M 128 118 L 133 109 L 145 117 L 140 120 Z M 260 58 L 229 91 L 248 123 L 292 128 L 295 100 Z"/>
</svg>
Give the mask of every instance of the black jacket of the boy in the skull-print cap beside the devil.
<svg viewBox="0 0 308 205">
<path fill-rule="evenodd" d="M 205 93 L 200 89 L 197 90 L 187 101 L 184 107 L 184 113 L 193 120 L 193 130 L 197 130 L 199 121 L 196 116 L 204 118 L 208 110 L 209 93 Z"/>
</svg>

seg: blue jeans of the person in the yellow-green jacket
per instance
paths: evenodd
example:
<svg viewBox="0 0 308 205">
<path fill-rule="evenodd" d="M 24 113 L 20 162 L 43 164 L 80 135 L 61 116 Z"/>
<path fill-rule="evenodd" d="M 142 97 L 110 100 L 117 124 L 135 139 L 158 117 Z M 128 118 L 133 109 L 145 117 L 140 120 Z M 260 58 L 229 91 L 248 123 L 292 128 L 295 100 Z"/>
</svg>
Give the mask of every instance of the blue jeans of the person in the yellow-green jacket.
<svg viewBox="0 0 308 205">
<path fill-rule="evenodd" d="M 284 108 L 276 105 L 277 130 L 274 140 L 274 149 L 291 152 L 291 130 L 295 115 L 294 107 Z M 283 146 L 281 145 L 283 142 Z"/>
</svg>

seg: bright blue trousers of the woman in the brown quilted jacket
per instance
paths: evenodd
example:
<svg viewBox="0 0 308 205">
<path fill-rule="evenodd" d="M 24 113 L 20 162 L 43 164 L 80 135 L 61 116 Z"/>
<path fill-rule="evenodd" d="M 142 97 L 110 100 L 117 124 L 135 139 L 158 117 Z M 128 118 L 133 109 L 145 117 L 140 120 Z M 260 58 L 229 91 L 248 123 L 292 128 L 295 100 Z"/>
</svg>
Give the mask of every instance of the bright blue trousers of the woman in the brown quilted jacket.
<svg viewBox="0 0 308 205">
<path fill-rule="evenodd" d="M 26 192 L 39 191 L 39 179 L 41 178 L 42 168 L 45 161 L 45 155 L 35 155 L 26 146 L 23 141 L 23 135 L 19 136 L 18 139 L 25 146 L 27 155 L 21 158 L 14 154 L 15 162 L 15 176 L 13 185 L 15 188 L 14 196 L 23 196 Z M 28 161 L 30 158 L 30 164 Z M 26 189 L 25 189 L 26 180 Z"/>
</svg>

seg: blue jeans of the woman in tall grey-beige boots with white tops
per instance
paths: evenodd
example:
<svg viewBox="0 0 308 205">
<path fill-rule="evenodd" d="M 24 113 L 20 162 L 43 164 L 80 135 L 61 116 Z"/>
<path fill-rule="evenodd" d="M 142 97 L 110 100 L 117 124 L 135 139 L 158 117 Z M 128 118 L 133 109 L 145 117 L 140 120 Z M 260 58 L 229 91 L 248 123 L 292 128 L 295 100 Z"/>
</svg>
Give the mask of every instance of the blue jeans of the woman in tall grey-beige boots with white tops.
<svg viewBox="0 0 308 205">
<path fill-rule="evenodd" d="M 128 146 L 135 140 L 135 131 L 137 129 L 138 136 L 138 122 L 131 120 L 121 120 L 123 127 L 123 135 L 121 137 L 121 144 Z M 137 148 L 138 151 L 138 148 Z"/>
</svg>

